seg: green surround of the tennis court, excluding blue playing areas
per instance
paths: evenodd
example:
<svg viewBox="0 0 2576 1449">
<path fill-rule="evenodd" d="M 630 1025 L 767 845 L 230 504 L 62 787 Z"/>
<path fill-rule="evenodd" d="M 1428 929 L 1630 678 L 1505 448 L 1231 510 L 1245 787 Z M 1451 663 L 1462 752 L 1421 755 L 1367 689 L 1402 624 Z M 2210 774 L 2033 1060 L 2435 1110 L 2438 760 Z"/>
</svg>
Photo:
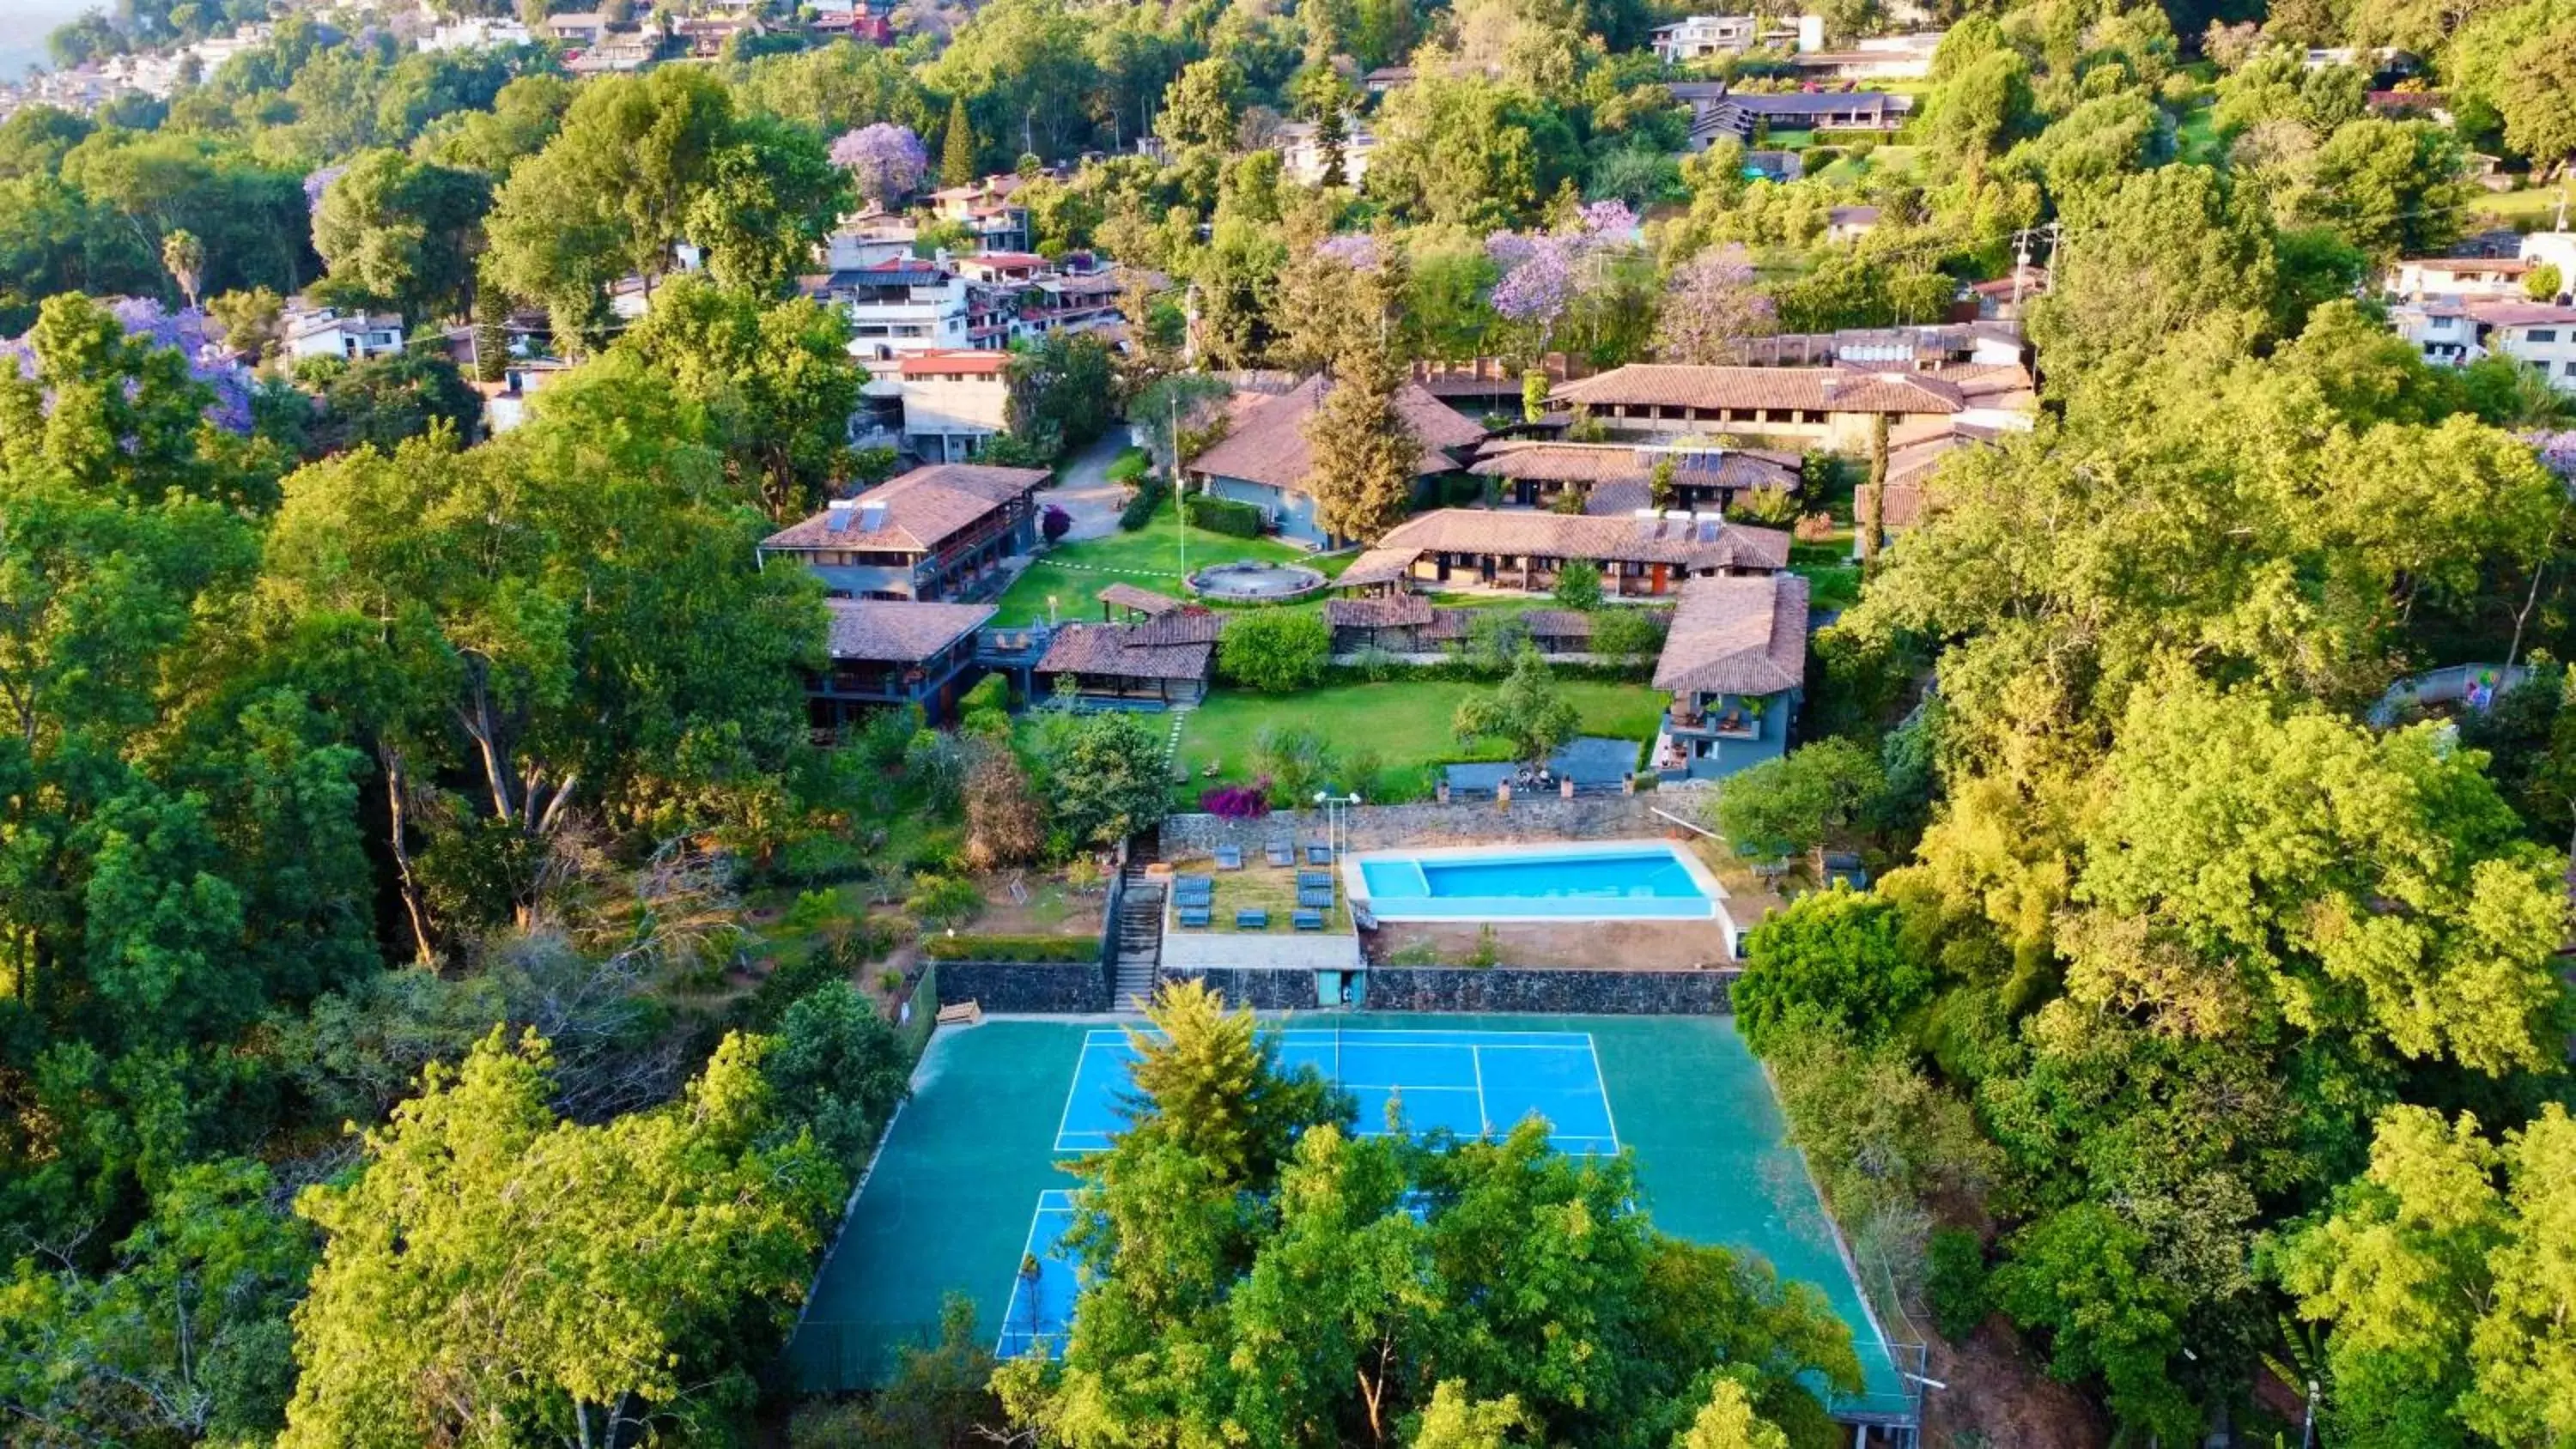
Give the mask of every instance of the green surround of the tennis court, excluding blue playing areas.
<svg viewBox="0 0 2576 1449">
<path fill-rule="evenodd" d="M 804 1390 L 873 1387 L 899 1343 L 938 1336 L 940 1297 L 963 1292 L 999 1333 L 1041 1197 L 1074 1186 L 1056 1145 L 1074 1076 L 1105 1017 L 945 1027 L 922 1055 L 840 1243 L 788 1349 Z M 1911 1405 L 1899 1354 L 1862 1307 L 1816 1186 L 1783 1143 L 1780 1107 L 1726 1017 L 1316 1014 L 1303 1032 L 1589 1032 L 1618 1140 L 1636 1150 L 1656 1228 L 1752 1251 L 1826 1292 L 1852 1328 L 1868 1392 L 1837 1410 Z M 1054 1277 L 1054 1274 L 1051 1274 Z"/>
</svg>

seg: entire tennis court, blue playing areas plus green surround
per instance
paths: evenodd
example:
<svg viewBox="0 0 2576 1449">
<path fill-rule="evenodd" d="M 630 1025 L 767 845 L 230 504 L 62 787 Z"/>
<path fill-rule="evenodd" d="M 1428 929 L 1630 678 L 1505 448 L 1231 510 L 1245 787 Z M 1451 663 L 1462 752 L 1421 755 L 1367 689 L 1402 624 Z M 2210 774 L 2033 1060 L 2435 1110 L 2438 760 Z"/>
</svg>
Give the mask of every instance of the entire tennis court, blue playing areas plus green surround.
<svg viewBox="0 0 2576 1449">
<path fill-rule="evenodd" d="M 1868 1392 L 1909 1403 L 1780 1109 L 1723 1017 L 1352 1014 L 1283 1022 L 1283 1058 L 1360 1099 L 1360 1130 L 1504 1132 L 1540 1114 L 1561 1150 L 1631 1148 L 1654 1223 L 1752 1251 L 1824 1289 Z M 904 1343 L 966 1295 L 1002 1354 L 1061 1346 L 1079 1295 L 1061 1251 L 1079 1153 L 1121 1125 L 1133 1053 L 1108 1019 L 987 1019 L 940 1029 L 788 1349 L 809 1392 L 884 1385 Z"/>
</svg>

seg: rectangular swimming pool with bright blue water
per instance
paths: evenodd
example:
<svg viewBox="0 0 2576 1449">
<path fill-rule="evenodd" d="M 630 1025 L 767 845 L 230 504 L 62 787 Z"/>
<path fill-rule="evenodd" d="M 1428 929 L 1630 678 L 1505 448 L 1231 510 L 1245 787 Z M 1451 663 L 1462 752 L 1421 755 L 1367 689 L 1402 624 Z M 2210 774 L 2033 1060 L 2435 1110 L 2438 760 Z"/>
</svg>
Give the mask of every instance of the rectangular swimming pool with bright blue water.
<svg viewBox="0 0 2576 1449">
<path fill-rule="evenodd" d="M 1381 921 L 1700 921 L 1726 896 L 1659 839 L 1373 849 L 1342 880 Z"/>
</svg>

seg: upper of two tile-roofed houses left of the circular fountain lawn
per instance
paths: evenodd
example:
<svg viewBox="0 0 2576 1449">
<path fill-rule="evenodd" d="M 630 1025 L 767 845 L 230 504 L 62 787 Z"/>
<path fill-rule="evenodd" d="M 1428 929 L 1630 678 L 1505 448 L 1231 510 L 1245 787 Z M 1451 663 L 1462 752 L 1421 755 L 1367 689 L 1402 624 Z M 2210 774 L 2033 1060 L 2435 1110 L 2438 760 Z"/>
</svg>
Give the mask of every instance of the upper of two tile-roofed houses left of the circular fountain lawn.
<svg viewBox="0 0 2576 1449">
<path fill-rule="evenodd" d="M 1046 468 L 912 468 L 768 535 L 760 564 L 801 564 L 845 600 L 974 600 L 1036 546 L 1043 486 Z"/>
</svg>

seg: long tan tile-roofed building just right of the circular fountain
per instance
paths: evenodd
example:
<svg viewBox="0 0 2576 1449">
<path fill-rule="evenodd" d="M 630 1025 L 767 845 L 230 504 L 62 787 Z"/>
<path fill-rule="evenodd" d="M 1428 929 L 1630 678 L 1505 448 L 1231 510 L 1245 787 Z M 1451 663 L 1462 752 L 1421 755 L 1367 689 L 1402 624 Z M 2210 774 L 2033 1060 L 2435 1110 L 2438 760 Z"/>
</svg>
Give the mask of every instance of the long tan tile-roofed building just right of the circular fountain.
<svg viewBox="0 0 2576 1449">
<path fill-rule="evenodd" d="M 1705 574 L 1770 574 L 1788 566 L 1788 533 L 1744 528 L 1716 512 L 1628 517 L 1443 507 L 1391 528 L 1342 569 L 1342 589 L 1507 589 L 1540 595 L 1569 561 L 1600 569 L 1610 597 L 1664 597 Z"/>
</svg>

